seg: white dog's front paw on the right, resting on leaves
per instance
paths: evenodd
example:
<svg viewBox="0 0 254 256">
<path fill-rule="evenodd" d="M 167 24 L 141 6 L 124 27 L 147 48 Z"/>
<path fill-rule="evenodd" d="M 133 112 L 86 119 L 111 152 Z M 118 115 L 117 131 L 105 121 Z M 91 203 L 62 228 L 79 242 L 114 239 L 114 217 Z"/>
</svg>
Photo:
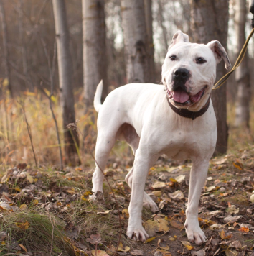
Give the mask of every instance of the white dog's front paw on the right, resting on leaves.
<svg viewBox="0 0 254 256">
<path fill-rule="evenodd" d="M 189 242 L 202 244 L 206 241 L 207 237 L 205 236 L 202 229 L 200 229 L 198 221 L 185 221 L 184 227 Z"/>
</svg>

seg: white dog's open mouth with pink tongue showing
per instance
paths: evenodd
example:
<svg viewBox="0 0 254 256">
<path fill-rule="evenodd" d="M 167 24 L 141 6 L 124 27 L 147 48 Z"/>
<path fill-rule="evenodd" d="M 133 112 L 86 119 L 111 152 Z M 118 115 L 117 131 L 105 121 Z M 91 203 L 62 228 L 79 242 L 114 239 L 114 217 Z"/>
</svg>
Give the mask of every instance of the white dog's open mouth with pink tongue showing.
<svg viewBox="0 0 254 256">
<path fill-rule="evenodd" d="M 179 88 L 177 91 L 169 91 L 169 89 L 166 88 L 166 93 L 169 99 L 172 99 L 175 104 L 190 105 L 197 103 L 202 98 L 205 88 L 207 88 L 207 86 L 204 86 L 204 88 L 195 95 L 189 95 L 182 88 Z"/>
</svg>

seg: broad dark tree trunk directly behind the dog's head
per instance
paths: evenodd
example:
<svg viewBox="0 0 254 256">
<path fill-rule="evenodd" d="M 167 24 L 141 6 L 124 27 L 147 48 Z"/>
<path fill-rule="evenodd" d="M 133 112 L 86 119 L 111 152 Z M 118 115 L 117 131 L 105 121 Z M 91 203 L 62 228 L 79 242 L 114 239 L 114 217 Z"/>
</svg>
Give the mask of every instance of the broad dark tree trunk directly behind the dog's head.
<svg viewBox="0 0 254 256">
<path fill-rule="evenodd" d="M 194 42 L 207 43 L 219 40 L 227 50 L 228 0 L 190 0 L 191 26 Z M 217 80 L 226 73 L 224 63 L 217 65 Z M 212 91 L 212 104 L 217 119 L 217 145 L 215 154 L 227 152 L 227 97 L 226 85 Z"/>
</svg>

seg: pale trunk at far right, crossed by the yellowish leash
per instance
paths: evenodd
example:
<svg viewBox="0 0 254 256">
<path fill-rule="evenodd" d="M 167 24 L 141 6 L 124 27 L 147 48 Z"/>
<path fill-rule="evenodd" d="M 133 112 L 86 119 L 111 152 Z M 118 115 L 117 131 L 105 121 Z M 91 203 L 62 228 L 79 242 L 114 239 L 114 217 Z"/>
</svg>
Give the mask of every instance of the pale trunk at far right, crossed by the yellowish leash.
<svg viewBox="0 0 254 256">
<path fill-rule="evenodd" d="M 240 53 L 245 43 L 246 0 L 235 1 L 235 37 L 236 54 Z M 237 99 L 235 106 L 235 125 L 249 127 L 250 122 L 250 73 L 248 70 L 248 54 L 235 71 L 237 83 Z"/>
</svg>

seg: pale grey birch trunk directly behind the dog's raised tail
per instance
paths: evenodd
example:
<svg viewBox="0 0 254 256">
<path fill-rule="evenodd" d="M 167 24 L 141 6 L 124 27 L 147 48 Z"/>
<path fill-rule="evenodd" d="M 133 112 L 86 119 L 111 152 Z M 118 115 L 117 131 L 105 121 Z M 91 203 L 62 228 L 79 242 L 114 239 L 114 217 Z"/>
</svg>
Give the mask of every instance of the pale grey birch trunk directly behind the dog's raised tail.
<svg viewBox="0 0 254 256">
<path fill-rule="evenodd" d="M 103 99 L 108 93 L 104 0 L 82 0 L 83 83 L 85 106 L 93 106 L 96 87 L 103 79 Z"/>
</svg>

